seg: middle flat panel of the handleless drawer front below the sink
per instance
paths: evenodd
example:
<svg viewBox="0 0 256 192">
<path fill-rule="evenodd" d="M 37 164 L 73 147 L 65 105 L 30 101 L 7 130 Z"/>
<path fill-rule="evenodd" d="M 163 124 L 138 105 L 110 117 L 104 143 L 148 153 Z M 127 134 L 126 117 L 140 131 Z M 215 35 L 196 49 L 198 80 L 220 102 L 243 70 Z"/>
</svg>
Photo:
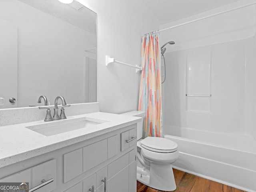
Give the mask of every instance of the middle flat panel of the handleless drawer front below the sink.
<svg viewBox="0 0 256 192">
<path fill-rule="evenodd" d="M 84 172 L 108 159 L 108 140 L 96 142 L 83 148 Z"/>
</svg>

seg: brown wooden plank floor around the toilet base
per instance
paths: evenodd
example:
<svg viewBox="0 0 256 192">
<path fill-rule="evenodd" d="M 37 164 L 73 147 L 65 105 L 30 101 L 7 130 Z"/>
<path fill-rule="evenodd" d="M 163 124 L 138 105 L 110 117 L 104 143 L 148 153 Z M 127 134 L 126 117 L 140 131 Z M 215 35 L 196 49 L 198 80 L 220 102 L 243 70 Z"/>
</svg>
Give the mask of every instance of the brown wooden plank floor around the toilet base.
<svg viewBox="0 0 256 192">
<path fill-rule="evenodd" d="M 245 192 L 180 170 L 173 169 L 173 172 L 177 186 L 174 192 Z M 150 188 L 137 181 L 137 192 L 163 191 Z"/>
</svg>

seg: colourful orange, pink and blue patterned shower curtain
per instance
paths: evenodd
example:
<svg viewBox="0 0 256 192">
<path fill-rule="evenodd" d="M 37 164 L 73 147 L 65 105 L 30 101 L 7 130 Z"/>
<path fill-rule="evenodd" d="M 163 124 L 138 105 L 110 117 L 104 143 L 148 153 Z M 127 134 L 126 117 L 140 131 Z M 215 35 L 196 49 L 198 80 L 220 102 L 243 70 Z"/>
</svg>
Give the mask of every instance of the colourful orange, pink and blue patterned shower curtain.
<svg viewBox="0 0 256 192">
<path fill-rule="evenodd" d="M 142 37 L 140 95 L 138 110 L 146 112 L 143 138 L 162 137 L 162 80 L 158 34 Z"/>
</svg>

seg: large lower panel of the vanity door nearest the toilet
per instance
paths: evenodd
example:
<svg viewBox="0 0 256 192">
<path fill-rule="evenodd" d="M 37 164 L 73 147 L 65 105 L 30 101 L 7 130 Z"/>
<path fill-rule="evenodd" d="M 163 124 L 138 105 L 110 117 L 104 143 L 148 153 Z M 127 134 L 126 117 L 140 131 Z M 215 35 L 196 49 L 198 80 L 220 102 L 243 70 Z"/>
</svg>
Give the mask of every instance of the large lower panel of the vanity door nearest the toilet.
<svg viewBox="0 0 256 192">
<path fill-rule="evenodd" d="M 129 166 L 108 180 L 108 192 L 129 192 Z"/>
</svg>

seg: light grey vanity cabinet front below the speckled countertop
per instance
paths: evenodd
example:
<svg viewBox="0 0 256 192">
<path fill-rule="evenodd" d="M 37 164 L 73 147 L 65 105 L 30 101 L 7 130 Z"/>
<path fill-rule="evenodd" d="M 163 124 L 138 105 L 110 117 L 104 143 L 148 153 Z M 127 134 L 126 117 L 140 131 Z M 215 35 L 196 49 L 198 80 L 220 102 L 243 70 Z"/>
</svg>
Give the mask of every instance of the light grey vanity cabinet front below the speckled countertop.
<svg viewBox="0 0 256 192">
<path fill-rule="evenodd" d="M 126 142 L 136 136 L 136 127 L 133 124 L 0 168 L 0 182 L 28 182 L 33 188 L 53 178 L 35 192 L 90 192 L 93 188 L 94 192 L 136 192 L 136 139 Z"/>
</svg>

